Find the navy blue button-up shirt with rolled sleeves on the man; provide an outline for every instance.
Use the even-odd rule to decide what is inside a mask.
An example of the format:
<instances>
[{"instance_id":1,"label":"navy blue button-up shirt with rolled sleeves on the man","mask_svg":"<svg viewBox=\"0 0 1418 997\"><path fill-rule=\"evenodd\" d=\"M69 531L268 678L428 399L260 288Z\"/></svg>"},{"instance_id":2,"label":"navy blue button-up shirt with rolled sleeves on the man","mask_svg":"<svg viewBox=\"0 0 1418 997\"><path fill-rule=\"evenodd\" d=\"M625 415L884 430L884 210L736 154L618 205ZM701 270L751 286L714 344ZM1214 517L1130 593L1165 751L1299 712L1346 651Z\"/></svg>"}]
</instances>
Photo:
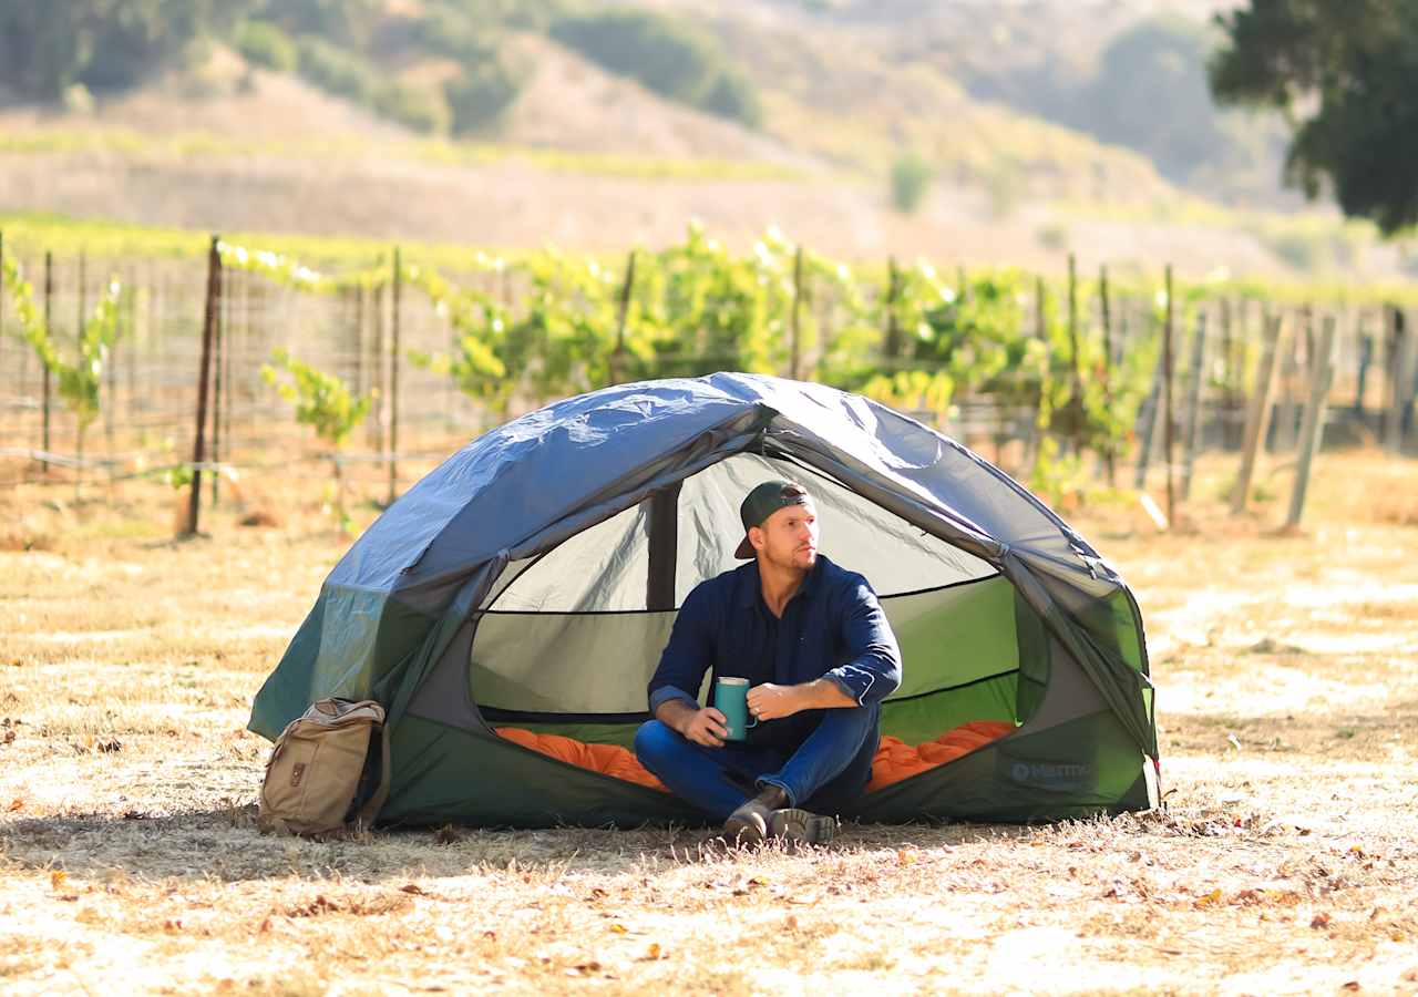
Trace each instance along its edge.
<instances>
[{"instance_id":1,"label":"navy blue button-up shirt with rolled sleeves on the man","mask_svg":"<svg viewBox=\"0 0 1418 997\"><path fill-rule=\"evenodd\" d=\"M698 708L706 671L800 685L832 679L859 706L878 703L900 685L900 651L876 593L861 574L822 555L778 618L763 601L756 560L700 581L685 598L649 679L649 712L668 699ZM712 686L710 686L712 688ZM808 709L749 729L747 743L797 749L822 711Z\"/></svg>"}]
</instances>

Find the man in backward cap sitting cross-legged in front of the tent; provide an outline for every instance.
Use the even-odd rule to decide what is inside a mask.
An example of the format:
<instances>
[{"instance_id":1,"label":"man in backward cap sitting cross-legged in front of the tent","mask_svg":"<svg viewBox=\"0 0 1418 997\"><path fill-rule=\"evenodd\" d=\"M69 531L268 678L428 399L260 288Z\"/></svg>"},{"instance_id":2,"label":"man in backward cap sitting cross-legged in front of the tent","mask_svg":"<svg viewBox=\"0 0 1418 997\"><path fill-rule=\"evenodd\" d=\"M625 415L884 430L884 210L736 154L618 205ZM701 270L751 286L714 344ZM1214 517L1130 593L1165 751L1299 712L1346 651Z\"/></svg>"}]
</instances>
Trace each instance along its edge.
<instances>
[{"instance_id":1,"label":"man in backward cap sitting cross-legged in front of the tent","mask_svg":"<svg viewBox=\"0 0 1418 997\"><path fill-rule=\"evenodd\" d=\"M801 485L769 481L739 508L753 560L685 598L649 681L655 718L635 754L675 794L725 821L726 837L822 842L831 815L871 780L881 701L900 685L900 651L861 574L818 555L817 509ZM725 715L695 698L705 671L749 679L757 725L726 742Z\"/></svg>"}]
</instances>

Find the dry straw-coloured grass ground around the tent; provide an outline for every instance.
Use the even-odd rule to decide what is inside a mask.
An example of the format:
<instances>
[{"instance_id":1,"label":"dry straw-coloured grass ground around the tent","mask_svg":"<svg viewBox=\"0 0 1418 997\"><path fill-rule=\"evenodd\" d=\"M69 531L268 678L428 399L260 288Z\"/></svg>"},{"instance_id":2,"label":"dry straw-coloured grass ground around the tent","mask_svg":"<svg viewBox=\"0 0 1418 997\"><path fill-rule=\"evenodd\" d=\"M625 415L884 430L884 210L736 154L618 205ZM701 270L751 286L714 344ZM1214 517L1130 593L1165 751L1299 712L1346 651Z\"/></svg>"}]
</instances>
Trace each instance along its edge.
<instances>
[{"instance_id":1,"label":"dry straw-coloured grass ground around the tent","mask_svg":"<svg viewBox=\"0 0 1418 997\"><path fill-rule=\"evenodd\" d=\"M1166 811L805 854L262 837L248 703L347 540L295 495L173 545L156 491L11 489L0 990L1418 991L1418 465L1326 455L1278 538L1221 513L1231 464L1204 529L1075 516L1141 603Z\"/></svg>"}]
</instances>

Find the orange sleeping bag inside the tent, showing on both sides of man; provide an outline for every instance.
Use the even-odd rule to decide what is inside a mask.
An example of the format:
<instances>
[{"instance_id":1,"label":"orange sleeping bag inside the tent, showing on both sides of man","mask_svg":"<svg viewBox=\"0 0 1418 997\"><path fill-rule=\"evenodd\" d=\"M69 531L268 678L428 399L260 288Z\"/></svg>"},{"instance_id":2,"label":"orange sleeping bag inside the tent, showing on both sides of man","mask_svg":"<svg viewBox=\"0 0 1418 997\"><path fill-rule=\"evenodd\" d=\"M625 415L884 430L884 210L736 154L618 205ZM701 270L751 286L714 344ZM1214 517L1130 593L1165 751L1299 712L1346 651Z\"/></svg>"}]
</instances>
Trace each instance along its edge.
<instances>
[{"instance_id":1,"label":"orange sleeping bag inside the tent, showing on both sides of man","mask_svg":"<svg viewBox=\"0 0 1418 997\"><path fill-rule=\"evenodd\" d=\"M977 747L998 740L1014 730L1012 723L998 720L976 720L964 723L954 730L947 730L934 740L912 747L899 737L882 737L872 760L872 781L866 784L866 791L885 789L902 779L919 776L936 766L953 762L961 754L967 754ZM579 769L598 772L603 776L624 779L627 783L647 786L661 793L668 793L665 784L655 779L645 766L640 763L635 753L620 745L587 745L574 737L563 737L554 733L535 733L522 728L496 728L495 733L515 745L540 752L557 762L574 764Z\"/></svg>"}]
</instances>

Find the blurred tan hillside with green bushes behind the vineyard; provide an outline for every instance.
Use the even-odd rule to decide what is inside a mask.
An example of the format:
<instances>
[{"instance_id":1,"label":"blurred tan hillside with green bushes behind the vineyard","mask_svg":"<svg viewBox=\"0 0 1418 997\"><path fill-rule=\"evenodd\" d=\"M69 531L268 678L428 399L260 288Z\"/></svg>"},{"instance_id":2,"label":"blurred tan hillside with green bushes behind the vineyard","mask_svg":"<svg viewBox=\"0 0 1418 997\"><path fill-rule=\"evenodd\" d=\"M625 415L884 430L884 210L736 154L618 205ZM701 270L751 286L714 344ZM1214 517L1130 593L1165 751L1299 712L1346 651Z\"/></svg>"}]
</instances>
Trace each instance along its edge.
<instances>
[{"instance_id":1,"label":"blurred tan hillside with green bushes behind the vineyard","mask_svg":"<svg viewBox=\"0 0 1418 997\"><path fill-rule=\"evenodd\" d=\"M0 211L593 250L699 217L842 255L1400 272L1290 217L1276 122L1212 109L1211 6L7 6Z\"/></svg>"}]
</instances>

